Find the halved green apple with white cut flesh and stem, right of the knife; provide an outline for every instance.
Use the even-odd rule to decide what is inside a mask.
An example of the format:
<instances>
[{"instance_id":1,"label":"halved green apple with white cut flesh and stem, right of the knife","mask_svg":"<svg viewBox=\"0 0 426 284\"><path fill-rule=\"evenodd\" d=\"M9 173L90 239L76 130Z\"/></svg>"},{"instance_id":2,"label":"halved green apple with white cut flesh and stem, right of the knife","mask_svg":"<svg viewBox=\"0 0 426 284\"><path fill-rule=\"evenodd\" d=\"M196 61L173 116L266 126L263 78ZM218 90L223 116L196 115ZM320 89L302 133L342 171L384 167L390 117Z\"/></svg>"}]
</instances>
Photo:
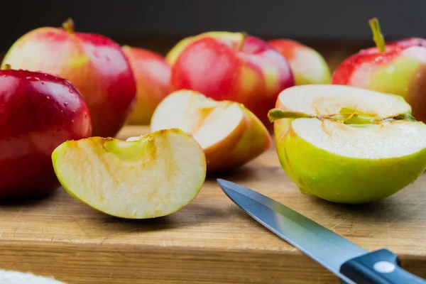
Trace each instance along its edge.
<instances>
[{"instance_id":1,"label":"halved green apple with white cut flesh and stem, right of the knife","mask_svg":"<svg viewBox=\"0 0 426 284\"><path fill-rule=\"evenodd\" d=\"M374 202L426 169L426 125L415 121L403 97L306 84L285 89L277 105L268 117L275 124L278 158L305 194L339 203Z\"/></svg>"}]
</instances>

